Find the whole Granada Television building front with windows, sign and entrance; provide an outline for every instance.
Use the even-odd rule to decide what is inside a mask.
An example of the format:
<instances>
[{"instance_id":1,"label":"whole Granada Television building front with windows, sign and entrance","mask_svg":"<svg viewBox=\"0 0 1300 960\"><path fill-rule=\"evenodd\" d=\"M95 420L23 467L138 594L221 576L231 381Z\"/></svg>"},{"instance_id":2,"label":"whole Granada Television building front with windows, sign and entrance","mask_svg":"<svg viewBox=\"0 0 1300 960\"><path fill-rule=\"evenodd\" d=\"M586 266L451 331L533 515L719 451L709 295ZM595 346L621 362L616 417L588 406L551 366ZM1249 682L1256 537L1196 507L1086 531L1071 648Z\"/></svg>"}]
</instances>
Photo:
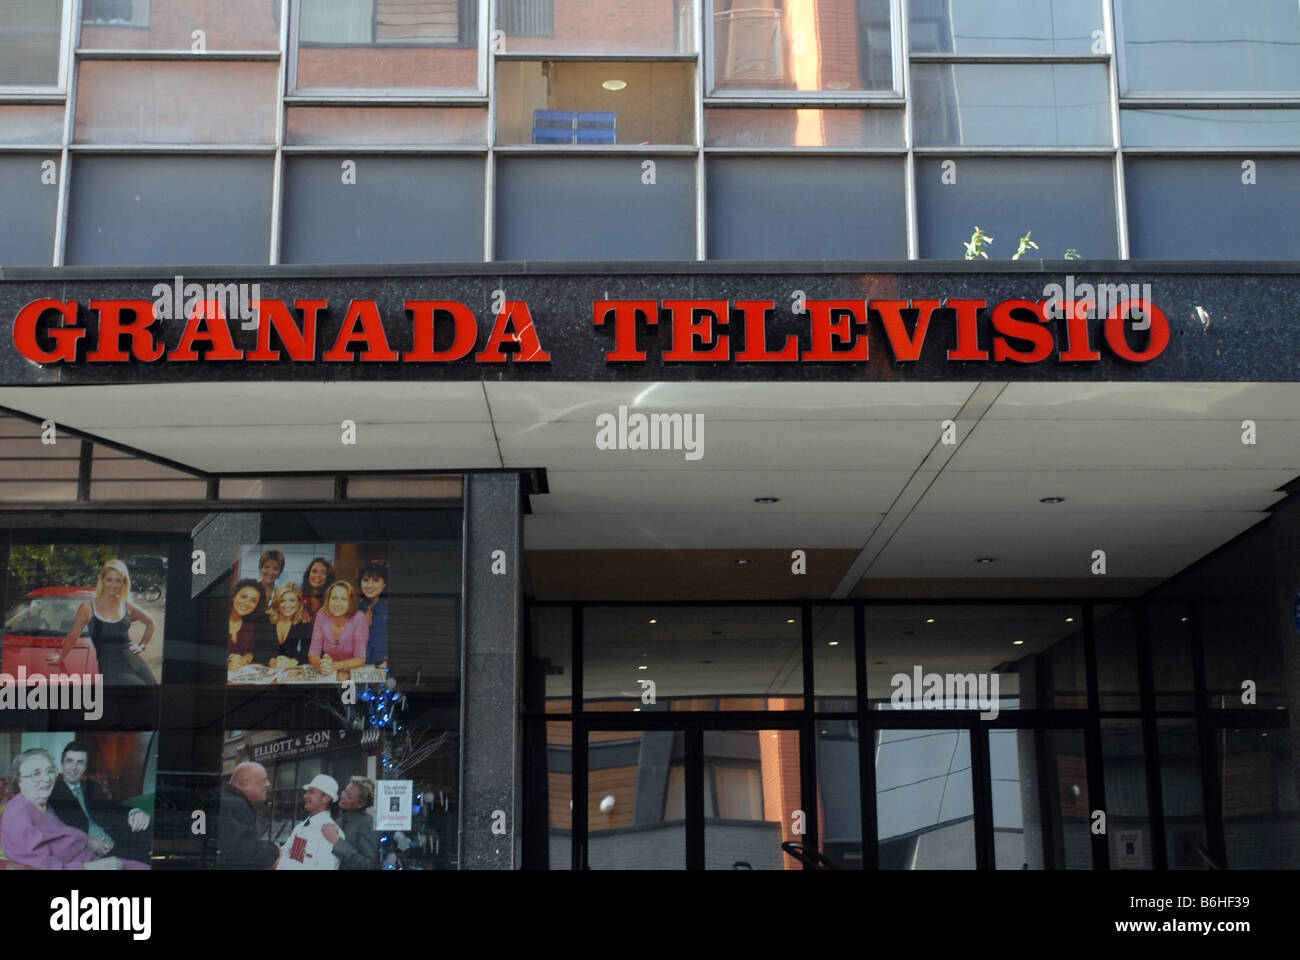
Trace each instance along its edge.
<instances>
[{"instance_id":1,"label":"whole Granada Television building front with windows, sign and entrance","mask_svg":"<svg viewBox=\"0 0 1300 960\"><path fill-rule=\"evenodd\" d=\"M157 869L254 865L240 770L283 866L317 778L374 869L1295 866L1297 48L10 4L5 809L44 749Z\"/></svg>"}]
</instances>

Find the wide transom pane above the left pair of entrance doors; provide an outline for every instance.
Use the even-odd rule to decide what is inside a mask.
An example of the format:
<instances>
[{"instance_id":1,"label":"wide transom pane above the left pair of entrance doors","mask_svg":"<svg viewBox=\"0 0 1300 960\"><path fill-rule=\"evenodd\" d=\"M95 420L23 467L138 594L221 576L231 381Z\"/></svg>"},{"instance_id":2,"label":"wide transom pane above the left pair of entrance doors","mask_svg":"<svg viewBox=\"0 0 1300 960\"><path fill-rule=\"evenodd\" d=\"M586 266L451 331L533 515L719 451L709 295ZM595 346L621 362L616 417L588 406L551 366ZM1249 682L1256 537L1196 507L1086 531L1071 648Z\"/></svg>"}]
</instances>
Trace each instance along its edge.
<instances>
[{"instance_id":1,"label":"wide transom pane above the left pair of entrance doors","mask_svg":"<svg viewBox=\"0 0 1300 960\"><path fill-rule=\"evenodd\" d=\"M803 706L798 607L593 606L584 615L586 709Z\"/></svg>"}]
</instances>

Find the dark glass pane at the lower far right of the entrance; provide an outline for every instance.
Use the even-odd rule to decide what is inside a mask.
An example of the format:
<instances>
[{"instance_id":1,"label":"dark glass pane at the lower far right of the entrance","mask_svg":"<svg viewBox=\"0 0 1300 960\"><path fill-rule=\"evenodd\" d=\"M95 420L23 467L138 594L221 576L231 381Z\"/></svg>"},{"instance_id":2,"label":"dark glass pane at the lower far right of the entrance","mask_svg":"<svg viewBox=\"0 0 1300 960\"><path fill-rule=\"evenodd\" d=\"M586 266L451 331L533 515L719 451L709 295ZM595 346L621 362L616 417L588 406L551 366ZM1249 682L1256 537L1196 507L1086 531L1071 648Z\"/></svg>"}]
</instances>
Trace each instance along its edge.
<instances>
[{"instance_id":1,"label":"dark glass pane at the lower far right of the entrance","mask_svg":"<svg viewBox=\"0 0 1300 960\"><path fill-rule=\"evenodd\" d=\"M1219 730L1214 735L1223 787L1227 868L1295 869L1296 793L1291 732Z\"/></svg>"}]
</instances>

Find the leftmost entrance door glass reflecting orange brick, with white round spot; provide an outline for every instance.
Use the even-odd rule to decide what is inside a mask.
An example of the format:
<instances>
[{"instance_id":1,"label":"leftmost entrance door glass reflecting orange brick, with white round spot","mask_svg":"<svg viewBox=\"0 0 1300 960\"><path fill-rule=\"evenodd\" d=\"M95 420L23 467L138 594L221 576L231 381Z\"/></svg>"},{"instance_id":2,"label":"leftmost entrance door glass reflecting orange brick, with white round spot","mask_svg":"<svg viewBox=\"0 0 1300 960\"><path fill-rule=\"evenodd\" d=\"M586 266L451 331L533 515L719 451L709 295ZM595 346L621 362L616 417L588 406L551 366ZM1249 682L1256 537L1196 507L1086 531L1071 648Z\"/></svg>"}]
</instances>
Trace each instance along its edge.
<instances>
[{"instance_id":1,"label":"leftmost entrance door glass reflecting orange brick, with white round spot","mask_svg":"<svg viewBox=\"0 0 1300 960\"><path fill-rule=\"evenodd\" d=\"M659 730L588 735L586 842L593 870L685 866L682 741L682 734Z\"/></svg>"}]
</instances>

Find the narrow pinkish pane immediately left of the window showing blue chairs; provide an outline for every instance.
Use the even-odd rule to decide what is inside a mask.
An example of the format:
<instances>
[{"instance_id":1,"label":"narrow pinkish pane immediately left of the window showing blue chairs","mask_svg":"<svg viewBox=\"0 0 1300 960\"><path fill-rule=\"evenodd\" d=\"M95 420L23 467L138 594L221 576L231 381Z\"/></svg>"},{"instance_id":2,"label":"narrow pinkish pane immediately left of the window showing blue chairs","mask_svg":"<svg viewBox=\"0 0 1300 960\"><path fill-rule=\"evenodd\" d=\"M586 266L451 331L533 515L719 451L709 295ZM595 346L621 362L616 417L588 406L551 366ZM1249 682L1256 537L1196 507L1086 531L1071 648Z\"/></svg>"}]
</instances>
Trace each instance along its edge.
<instances>
[{"instance_id":1,"label":"narrow pinkish pane immediately left of the window showing blue chairs","mask_svg":"<svg viewBox=\"0 0 1300 960\"><path fill-rule=\"evenodd\" d=\"M285 143L473 146L488 143L488 111L441 107L289 107Z\"/></svg>"}]
</instances>

